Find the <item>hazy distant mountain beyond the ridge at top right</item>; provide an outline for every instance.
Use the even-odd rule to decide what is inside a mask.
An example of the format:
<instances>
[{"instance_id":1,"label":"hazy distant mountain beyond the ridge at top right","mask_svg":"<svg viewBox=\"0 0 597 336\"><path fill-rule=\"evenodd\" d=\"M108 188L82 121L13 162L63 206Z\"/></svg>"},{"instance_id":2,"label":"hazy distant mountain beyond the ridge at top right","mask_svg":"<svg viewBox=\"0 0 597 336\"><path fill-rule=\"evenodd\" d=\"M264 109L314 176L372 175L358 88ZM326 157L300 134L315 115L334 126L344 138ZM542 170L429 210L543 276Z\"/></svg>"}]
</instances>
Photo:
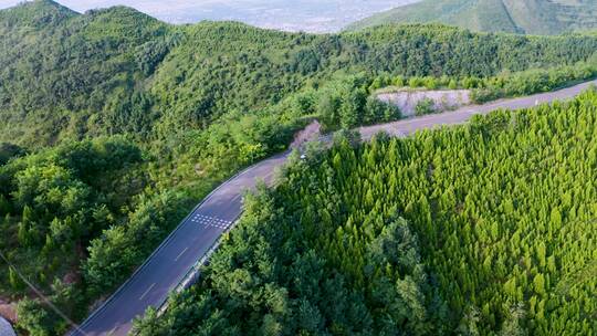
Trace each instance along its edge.
<instances>
[{"instance_id":1,"label":"hazy distant mountain beyond the ridge at top right","mask_svg":"<svg viewBox=\"0 0 597 336\"><path fill-rule=\"evenodd\" d=\"M559 34L597 29L597 0L425 0L352 24L439 22L482 32Z\"/></svg>"}]
</instances>

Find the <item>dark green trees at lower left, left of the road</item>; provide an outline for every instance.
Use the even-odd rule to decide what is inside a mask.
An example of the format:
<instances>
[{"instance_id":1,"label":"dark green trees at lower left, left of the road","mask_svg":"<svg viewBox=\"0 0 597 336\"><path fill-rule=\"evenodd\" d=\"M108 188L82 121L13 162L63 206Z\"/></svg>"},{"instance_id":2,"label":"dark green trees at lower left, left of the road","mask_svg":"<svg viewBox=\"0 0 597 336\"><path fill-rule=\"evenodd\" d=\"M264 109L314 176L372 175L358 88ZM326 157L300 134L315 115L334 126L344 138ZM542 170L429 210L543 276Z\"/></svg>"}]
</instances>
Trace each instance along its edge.
<instances>
[{"instance_id":1,"label":"dark green trees at lower left, left of the road","mask_svg":"<svg viewBox=\"0 0 597 336\"><path fill-rule=\"evenodd\" d=\"M189 207L172 192L155 195L145 168L139 148L119 137L65 143L0 167L0 246L72 318L85 316L91 301L126 279ZM123 232L121 241L115 232ZM29 293L4 263L0 277L9 284L0 295ZM45 304L24 297L18 307L19 327L31 335L65 333Z\"/></svg>"}]
</instances>

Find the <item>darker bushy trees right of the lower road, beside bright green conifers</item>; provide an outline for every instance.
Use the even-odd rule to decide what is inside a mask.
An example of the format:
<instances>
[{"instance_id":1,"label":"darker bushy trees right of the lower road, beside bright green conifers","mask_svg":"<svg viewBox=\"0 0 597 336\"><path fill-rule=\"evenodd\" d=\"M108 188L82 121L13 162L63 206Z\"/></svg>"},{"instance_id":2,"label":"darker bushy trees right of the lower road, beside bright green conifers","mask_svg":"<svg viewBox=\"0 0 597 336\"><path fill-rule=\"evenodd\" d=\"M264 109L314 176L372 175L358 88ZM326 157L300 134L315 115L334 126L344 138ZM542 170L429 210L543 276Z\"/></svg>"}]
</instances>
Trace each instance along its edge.
<instances>
[{"instance_id":1,"label":"darker bushy trees right of the lower road, beside bright green conifers","mask_svg":"<svg viewBox=\"0 0 597 336\"><path fill-rule=\"evenodd\" d=\"M294 178L300 177L293 172ZM429 322L441 318L444 306L420 263L409 224L374 213L363 222L338 220L331 217L338 214L332 203L314 208L321 199L305 198L303 183L290 182L281 193L262 189L249 199L243 220L210 261L201 284L172 298L172 309L157 323L151 313L137 322L139 334L432 330Z\"/></svg>"}]
</instances>

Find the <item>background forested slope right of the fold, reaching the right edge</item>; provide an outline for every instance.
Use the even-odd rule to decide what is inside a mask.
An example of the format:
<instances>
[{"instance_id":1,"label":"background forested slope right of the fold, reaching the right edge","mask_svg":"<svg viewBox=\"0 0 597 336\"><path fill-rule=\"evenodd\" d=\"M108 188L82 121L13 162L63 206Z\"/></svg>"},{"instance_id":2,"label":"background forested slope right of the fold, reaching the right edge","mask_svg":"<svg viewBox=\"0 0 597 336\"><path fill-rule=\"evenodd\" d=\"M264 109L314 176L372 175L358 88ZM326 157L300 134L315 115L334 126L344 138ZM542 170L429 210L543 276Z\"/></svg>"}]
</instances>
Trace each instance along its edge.
<instances>
[{"instance_id":1,"label":"background forested slope right of the fold, reaching the right edge","mask_svg":"<svg viewBox=\"0 0 597 336\"><path fill-rule=\"evenodd\" d=\"M574 63L575 54L585 59L596 46L587 38L490 36L437 25L311 35L206 22L185 30L149 91L165 135L230 111L261 109L338 74L491 76Z\"/></svg>"}]
</instances>

